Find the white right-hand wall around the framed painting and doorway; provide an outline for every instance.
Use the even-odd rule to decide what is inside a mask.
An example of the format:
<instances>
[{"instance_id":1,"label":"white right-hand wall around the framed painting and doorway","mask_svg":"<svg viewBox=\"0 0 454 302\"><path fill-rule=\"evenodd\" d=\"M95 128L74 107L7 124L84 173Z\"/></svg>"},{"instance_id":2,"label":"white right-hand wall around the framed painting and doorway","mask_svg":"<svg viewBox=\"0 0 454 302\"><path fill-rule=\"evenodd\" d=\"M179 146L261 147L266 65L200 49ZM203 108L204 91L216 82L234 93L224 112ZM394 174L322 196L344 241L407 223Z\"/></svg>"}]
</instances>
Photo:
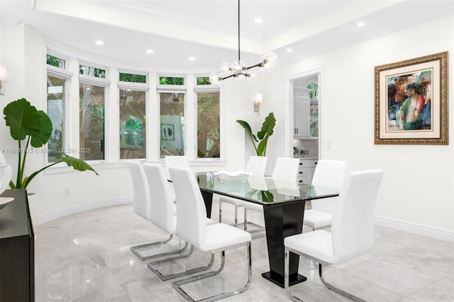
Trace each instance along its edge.
<instances>
[{"instance_id":1,"label":"white right-hand wall around the framed painting and doorway","mask_svg":"<svg viewBox=\"0 0 454 302\"><path fill-rule=\"evenodd\" d=\"M374 67L448 50L453 87L453 16L380 38L280 65L270 74L267 98L282 101L284 79L323 69L324 158L348 160L350 170L384 169L376 216L381 223L454 235L453 123L450 145L374 145ZM435 33L442 37L436 38ZM449 94L453 104L453 94ZM282 108L275 104L276 111ZM454 106L449 106L453 116ZM278 120L284 118L279 111ZM284 129L277 127L276 152L284 153ZM331 143L331 149L326 148ZM380 223L379 221L379 223ZM410 229L410 228L409 228ZM421 230L425 232L426 230ZM443 236L442 235L442 236Z\"/></svg>"}]
</instances>

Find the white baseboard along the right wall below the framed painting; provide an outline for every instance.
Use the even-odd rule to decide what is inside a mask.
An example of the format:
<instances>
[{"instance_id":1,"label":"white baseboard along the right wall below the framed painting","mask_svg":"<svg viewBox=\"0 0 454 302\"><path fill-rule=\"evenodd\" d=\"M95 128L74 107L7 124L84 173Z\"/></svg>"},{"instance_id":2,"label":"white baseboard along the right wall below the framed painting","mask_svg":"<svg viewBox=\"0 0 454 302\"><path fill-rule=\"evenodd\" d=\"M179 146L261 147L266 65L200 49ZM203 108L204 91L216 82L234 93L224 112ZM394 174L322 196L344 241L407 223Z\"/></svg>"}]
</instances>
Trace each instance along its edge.
<instances>
[{"instance_id":1,"label":"white baseboard along the right wall below the framed painting","mask_svg":"<svg viewBox=\"0 0 454 302\"><path fill-rule=\"evenodd\" d=\"M392 228L394 230L402 230L404 232L430 237L436 240L454 242L454 230L437 228L421 223L414 223L384 216L375 216L375 224L384 228Z\"/></svg>"}]
</instances>

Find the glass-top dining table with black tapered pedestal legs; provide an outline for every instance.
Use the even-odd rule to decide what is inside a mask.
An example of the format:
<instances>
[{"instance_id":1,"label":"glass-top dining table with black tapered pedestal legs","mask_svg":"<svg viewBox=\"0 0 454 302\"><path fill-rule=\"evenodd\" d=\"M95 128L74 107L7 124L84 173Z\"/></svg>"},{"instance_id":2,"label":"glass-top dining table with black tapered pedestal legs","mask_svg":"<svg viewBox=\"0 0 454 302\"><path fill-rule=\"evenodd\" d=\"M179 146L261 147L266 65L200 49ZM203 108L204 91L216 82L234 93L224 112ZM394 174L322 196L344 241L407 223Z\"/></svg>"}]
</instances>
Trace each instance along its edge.
<instances>
[{"instance_id":1,"label":"glass-top dining table with black tapered pedestal legs","mask_svg":"<svg viewBox=\"0 0 454 302\"><path fill-rule=\"evenodd\" d=\"M221 177L215 172L196 172L196 179L211 216L213 194L230 196L263 206L265 232L270 272L262 276L284 287L284 237L299 234L303 228L304 203L306 201L338 196L338 189L308 184L296 184L240 174L237 177ZM290 285L306 281L298 274L299 256L289 257Z\"/></svg>"}]
</instances>

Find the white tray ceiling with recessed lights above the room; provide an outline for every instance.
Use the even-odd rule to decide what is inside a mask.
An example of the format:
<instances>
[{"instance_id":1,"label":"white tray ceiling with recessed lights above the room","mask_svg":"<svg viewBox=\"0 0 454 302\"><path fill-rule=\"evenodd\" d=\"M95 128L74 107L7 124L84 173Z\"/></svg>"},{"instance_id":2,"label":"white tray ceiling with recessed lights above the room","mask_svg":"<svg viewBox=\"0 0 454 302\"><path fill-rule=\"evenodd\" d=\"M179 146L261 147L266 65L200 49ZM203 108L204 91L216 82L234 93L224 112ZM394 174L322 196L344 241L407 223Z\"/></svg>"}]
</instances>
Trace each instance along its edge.
<instances>
[{"instance_id":1,"label":"white tray ceiling with recessed lights above the room","mask_svg":"<svg viewBox=\"0 0 454 302\"><path fill-rule=\"evenodd\" d=\"M241 59L252 65L267 51L281 62L309 57L452 15L453 7L452 0L242 0ZM1 26L23 22L62 45L137 65L210 69L238 58L236 0L0 0L0 16Z\"/></svg>"}]
</instances>

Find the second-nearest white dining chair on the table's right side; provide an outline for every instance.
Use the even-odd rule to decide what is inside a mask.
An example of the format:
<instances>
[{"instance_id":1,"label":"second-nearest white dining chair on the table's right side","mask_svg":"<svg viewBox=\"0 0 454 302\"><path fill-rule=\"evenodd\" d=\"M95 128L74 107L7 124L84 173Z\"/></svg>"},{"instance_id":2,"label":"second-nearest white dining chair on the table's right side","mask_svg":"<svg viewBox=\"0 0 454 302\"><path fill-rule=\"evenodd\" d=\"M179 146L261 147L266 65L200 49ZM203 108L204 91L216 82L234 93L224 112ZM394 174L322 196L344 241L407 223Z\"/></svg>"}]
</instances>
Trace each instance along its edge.
<instances>
[{"instance_id":1,"label":"second-nearest white dining chair on the table's right side","mask_svg":"<svg viewBox=\"0 0 454 302\"><path fill-rule=\"evenodd\" d=\"M318 160L312 184L340 190L346 173L347 162L344 160ZM331 197L311 201L311 209L304 211L303 225L309 226L312 230L328 228L337 200L338 197Z\"/></svg>"}]
</instances>

